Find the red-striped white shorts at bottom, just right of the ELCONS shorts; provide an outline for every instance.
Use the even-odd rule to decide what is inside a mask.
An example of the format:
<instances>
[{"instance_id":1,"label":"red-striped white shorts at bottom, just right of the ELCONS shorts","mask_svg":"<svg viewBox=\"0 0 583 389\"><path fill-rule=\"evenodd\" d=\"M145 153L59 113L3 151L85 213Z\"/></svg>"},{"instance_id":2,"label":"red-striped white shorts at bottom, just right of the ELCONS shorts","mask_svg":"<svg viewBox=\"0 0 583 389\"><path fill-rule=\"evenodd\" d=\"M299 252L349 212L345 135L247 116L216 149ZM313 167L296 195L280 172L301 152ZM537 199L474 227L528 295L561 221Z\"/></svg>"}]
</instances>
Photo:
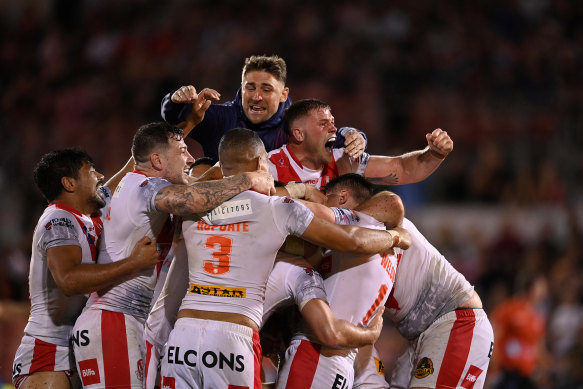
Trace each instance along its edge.
<instances>
[{"instance_id":1,"label":"red-striped white shorts at bottom, just right of the ELCONS shorts","mask_svg":"<svg viewBox=\"0 0 583 389\"><path fill-rule=\"evenodd\" d=\"M354 381L354 358L320 354L320 345L309 340L294 338L285 352L285 362L280 370L277 389L346 389Z\"/></svg>"}]
</instances>

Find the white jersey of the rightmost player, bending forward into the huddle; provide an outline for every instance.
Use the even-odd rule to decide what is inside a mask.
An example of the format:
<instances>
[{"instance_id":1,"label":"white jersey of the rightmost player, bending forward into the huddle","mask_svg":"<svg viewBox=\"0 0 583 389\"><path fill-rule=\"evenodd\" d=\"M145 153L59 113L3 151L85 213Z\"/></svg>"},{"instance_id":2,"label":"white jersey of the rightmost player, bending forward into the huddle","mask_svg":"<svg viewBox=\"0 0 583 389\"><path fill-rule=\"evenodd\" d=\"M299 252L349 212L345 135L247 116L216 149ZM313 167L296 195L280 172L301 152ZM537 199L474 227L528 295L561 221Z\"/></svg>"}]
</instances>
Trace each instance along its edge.
<instances>
[{"instance_id":1,"label":"white jersey of the rightmost player, bending forward into the huddle","mask_svg":"<svg viewBox=\"0 0 583 389\"><path fill-rule=\"evenodd\" d=\"M411 247L403 251L385 315L407 339L414 339L435 319L453 311L473 293L473 286L425 239L408 219L403 228Z\"/></svg>"}]
</instances>

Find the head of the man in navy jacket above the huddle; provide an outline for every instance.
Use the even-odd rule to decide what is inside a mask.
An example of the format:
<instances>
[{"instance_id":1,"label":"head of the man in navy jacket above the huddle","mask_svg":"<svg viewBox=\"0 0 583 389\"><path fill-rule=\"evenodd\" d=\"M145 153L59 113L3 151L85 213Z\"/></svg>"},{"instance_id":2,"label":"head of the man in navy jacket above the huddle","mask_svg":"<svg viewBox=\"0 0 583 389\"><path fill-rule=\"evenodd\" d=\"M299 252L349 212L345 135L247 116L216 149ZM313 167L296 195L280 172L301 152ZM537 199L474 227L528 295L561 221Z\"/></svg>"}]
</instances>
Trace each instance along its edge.
<instances>
[{"instance_id":1,"label":"head of the man in navy jacket above the huddle","mask_svg":"<svg viewBox=\"0 0 583 389\"><path fill-rule=\"evenodd\" d=\"M269 120L287 100L287 68L277 55L254 55L245 59L241 75L243 112L253 124Z\"/></svg>"}]
</instances>

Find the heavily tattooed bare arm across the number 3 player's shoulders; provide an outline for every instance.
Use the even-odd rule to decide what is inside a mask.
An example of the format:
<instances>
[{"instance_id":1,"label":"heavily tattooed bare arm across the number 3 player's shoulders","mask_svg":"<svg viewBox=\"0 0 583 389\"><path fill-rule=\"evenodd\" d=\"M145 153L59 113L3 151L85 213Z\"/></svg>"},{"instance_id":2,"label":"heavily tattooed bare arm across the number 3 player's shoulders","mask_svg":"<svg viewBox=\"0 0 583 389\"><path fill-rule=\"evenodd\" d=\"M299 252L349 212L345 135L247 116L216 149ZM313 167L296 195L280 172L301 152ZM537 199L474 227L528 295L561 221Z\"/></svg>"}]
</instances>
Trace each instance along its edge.
<instances>
[{"instance_id":1,"label":"heavily tattooed bare arm across the number 3 player's shoulders","mask_svg":"<svg viewBox=\"0 0 583 389\"><path fill-rule=\"evenodd\" d=\"M255 171L195 185L171 185L161 189L154 201L159 211L188 217L216 208L249 189L266 195L275 193L273 177L268 172Z\"/></svg>"}]
</instances>

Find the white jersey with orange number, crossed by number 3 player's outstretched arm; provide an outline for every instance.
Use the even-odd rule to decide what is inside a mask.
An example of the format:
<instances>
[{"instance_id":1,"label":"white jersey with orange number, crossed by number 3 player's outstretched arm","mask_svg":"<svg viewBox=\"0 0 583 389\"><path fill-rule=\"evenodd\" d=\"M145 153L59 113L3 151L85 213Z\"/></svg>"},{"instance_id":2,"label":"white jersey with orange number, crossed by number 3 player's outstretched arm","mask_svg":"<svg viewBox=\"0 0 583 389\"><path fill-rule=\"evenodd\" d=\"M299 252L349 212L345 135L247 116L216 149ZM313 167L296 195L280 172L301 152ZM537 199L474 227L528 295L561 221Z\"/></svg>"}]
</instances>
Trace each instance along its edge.
<instances>
[{"instance_id":1,"label":"white jersey with orange number, crossed by number 3 player's outstretched arm","mask_svg":"<svg viewBox=\"0 0 583 389\"><path fill-rule=\"evenodd\" d=\"M332 208L337 224L384 230L385 225L361 212ZM397 254L403 250L394 249ZM334 315L367 326L385 303L395 282L397 257L383 253L358 255L329 251L320 264L328 302Z\"/></svg>"}]
</instances>

